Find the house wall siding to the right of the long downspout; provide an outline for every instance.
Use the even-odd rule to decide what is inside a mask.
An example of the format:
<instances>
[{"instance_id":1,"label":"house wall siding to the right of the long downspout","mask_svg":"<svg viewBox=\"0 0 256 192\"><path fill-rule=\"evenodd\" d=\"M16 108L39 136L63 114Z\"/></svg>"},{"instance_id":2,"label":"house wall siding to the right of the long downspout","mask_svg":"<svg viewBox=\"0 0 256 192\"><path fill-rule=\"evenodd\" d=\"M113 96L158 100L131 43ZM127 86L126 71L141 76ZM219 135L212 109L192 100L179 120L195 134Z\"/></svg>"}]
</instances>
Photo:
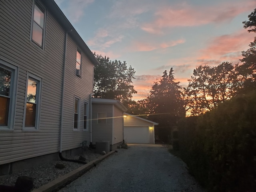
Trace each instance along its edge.
<instances>
[{"instance_id":1,"label":"house wall siding to the right of the long downspout","mask_svg":"<svg viewBox=\"0 0 256 192\"><path fill-rule=\"evenodd\" d=\"M77 45L68 35L65 69L65 87L64 87L64 110L63 110L63 132L62 132L62 150L69 150L81 147L82 141L90 142L90 128L84 131L84 124L80 123L78 130L73 131L74 118L74 95L80 98L80 122L84 121L84 102L90 102L90 94L93 92L93 70L94 66L82 54L82 78L78 78L74 72L76 63ZM90 107L88 106L90 112ZM90 125L90 119L87 121Z\"/></svg>"}]
</instances>

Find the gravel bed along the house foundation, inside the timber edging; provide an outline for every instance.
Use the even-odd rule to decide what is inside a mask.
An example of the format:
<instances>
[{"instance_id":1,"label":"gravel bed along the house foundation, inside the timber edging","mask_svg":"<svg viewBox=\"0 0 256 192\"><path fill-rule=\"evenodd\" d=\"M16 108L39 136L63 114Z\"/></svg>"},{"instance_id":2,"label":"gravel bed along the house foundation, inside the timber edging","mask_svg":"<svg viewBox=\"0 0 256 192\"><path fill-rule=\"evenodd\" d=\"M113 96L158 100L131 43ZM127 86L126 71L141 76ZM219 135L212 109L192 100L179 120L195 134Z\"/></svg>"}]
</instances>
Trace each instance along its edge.
<instances>
[{"instance_id":1,"label":"gravel bed along the house foundation, inside the timber edging","mask_svg":"<svg viewBox=\"0 0 256 192\"><path fill-rule=\"evenodd\" d=\"M83 154L80 154L78 156L71 156L68 157L68 159L79 159L80 156L83 156L86 158L86 162L90 162L100 156L101 154L97 154L94 151L86 150ZM58 169L55 168L56 164L63 164L65 168ZM79 168L80 166L83 166L84 164L75 163L75 162L68 162L68 161L52 161L48 163L41 164L39 166L35 166L30 169L24 169L20 172L16 172L14 174L10 175L4 175L0 176L0 184L1 185L8 185L8 186L14 186L17 178L19 176L30 176L34 178L34 188L39 188L40 186L47 184L51 182L52 180L55 180L56 178L63 176L72 170L75 170Z\"/></svg>"}]
</instances>

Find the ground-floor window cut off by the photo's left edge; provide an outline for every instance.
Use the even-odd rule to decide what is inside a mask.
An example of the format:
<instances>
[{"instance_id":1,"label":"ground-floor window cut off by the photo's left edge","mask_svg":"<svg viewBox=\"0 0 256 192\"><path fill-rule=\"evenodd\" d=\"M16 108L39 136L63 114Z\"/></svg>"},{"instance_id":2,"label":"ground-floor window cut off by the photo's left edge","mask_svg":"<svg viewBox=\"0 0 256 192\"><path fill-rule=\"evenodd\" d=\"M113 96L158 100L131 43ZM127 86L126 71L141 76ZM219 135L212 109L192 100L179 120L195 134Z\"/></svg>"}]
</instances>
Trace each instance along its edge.
<instances>
[{"instance_id":1,"label":"ground-floor window cut off by the photo's left edge","mask_svg":"<svg viewBox=\"0 0 256 192\"><path fill-rule=\"evenodd\" d=\"M0 59L0 130L14 128L18 67Z\"/></svg>"}]
</instances>

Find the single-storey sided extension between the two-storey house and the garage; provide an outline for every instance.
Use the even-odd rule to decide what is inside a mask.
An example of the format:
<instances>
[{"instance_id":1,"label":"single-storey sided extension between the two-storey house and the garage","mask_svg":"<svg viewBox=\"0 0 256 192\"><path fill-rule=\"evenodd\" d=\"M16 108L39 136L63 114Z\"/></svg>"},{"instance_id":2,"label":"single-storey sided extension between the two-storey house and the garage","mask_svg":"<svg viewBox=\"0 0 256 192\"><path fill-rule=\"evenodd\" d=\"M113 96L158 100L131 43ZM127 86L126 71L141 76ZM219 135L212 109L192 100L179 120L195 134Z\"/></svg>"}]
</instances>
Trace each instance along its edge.
<instances>
[{"instance_id":1,"label":"single-storey sided extension between the two-storey house and the garage","mask_svg":"<svg viewBox=\"0 0 256 192\"><path fill-rule=\"evenodd\" d=\"M110 150L116 149L124 139L126 110L118 100L92 98L92 144L109 142Z\"/></svg>"}]
</instances>

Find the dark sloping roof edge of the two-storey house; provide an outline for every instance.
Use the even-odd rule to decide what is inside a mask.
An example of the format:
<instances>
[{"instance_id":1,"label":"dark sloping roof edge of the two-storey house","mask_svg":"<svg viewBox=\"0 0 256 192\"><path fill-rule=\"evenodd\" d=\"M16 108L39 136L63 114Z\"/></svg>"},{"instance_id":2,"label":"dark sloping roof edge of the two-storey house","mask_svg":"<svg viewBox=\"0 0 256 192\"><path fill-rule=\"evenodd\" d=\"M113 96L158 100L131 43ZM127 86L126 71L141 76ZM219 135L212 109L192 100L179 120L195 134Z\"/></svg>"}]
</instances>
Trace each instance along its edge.
<instances>
[{"instance_id":1,"label":"dark sloping roof edge of the two-storey house","mask_svg":"<svg viewBox=\"0 0 256 192\"><path fill-rule=\"evenodd\" d=\"M72 26L72 24L69 22L69 20L66 18L64 13L60 10L58 5L54 2L54 0L43 0L42 1L46 8L50 11L50 13L56 18L58 23L68 32L69 36L76 42L78 47L82 49L82 52L88 56L89 60L92 62L92 64L96 65L99 64L98 60L95 58L94 54L92 54L91 50L88 48L88 46L85 44L84 40L80 37L78 32L75 30L75 28Z\"/></svg>"}]
</instances>

